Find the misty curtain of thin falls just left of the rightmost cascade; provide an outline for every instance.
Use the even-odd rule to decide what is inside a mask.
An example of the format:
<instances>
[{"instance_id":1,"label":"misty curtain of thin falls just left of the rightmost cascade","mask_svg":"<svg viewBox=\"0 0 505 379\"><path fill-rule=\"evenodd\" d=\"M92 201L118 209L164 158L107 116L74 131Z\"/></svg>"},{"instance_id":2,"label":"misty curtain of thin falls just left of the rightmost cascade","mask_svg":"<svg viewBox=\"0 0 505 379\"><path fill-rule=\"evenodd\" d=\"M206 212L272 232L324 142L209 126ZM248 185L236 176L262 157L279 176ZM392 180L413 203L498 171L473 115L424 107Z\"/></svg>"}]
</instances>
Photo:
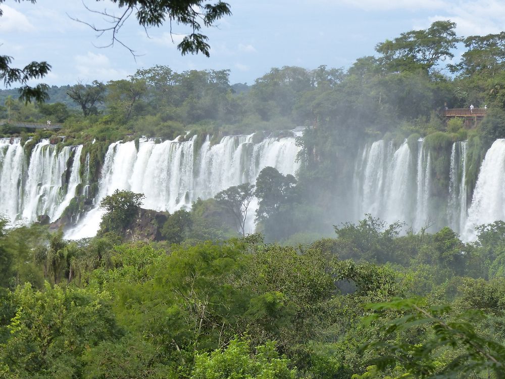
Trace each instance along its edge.
<instances>
[{"instance_id":1,"label":"misty curtain of thin falls just left of the rightmost cascade","mask_svg":"<svg viewBox=\"0 0 505 379\"><path fill-rule=\"evenodd\" d=\"M453 144L450 184L436 198L432 156L423 138L417 141L417 154L407 141L396 149L383 140L367 144L356 165L356 219L370 213L387 223L405 222L416 232L428 225L433 226L430 231L436 230L447 223L460 232L467 215L466 146L466 142Z\"/></svg>"}]
</instances>

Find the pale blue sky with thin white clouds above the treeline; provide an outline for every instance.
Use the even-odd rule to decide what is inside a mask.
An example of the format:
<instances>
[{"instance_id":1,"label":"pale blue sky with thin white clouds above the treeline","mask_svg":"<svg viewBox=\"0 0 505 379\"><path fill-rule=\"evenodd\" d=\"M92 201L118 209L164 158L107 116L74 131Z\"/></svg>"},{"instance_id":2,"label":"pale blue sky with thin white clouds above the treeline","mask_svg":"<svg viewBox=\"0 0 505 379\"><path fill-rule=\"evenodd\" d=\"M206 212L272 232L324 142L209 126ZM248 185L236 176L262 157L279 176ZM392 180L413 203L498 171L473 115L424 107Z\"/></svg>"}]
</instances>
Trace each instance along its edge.
<instances>
[{"instance_id":1,"label":"pale blue sky with thin white clouds above the treeline","mask_svg":"<svg viewBox=\"0 0 505 379\"><path fill-rule=\"evenodd\" d=\"M172 70L229 69L230 83L248 83L274 67L348 68L357 58L374 55L377 43L400 33L426 29L437 20L457 23L460 36L505 30L503 0L228 0L231 16L204 29L211 56L181 56L177 42L189 30L169 25L145 30L130 17L118 37L138 55L110 44L111 35L97 37L89 26L72 18L107 25L86 10L121 10L108 0L37 0L0 4L0 55L12 66L47 61L51 73L42 82L66 85L93 80L126 79L137 69L155 65ZM456 52L455 60L462 49ZM32 82L34 84L36 82ZM0 83L0 88L4 88Z\"/></svg>"}]
</instances>

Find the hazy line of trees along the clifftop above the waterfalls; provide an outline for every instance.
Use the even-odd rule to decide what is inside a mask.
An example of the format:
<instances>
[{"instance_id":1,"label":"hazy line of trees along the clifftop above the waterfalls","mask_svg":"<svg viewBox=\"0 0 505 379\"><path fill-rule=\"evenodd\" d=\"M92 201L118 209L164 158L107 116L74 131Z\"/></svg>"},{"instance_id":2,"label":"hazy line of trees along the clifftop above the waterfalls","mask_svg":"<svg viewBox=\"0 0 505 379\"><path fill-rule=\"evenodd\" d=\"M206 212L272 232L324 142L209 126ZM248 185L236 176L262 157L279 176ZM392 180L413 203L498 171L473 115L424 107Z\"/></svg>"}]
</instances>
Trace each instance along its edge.
<instances>
[{"instance_id":1,"label":"hazy line of trees along the clifftop above the waterfalls","mask_svg":"<svg viewBox=\"0 0 505 379\"><path fill-rule=\"evenodd\" d=\"M188 127L246 132L330 125L357 128L356 134L370 137L401 128L424 134L443 129L436 112L445 104L474 104L490 109L490 137L502 135L495 124L503 118L505 32L463 38L455 28L456 23L436 21L425 30L401 33L378 43L375 56L359 58L347 70L285 66L251 85L231 85L226 69L177 73L155 66L107 83L53 86L52 104L17 104L13 113L20 121L68 120L69 133L90 124L159 137ZM459 43L467 50L453 64ZM0 103L5 103L2 96Z\"/></svg>"}]
</instances>

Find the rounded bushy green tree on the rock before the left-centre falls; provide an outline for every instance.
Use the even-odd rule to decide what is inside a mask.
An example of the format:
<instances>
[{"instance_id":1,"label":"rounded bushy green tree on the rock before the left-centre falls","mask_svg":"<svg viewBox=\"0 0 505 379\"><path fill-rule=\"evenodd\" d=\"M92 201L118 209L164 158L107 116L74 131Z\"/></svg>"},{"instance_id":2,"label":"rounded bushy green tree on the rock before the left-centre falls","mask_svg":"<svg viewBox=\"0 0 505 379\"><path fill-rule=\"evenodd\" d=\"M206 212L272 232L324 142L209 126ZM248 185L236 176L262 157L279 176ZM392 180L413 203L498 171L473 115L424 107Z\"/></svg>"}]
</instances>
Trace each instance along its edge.
<instances>
[{"instance_id":1,"label":"rounded bushy green tree on the rock before the left-centre falls","mask_svg":"<svg viewBox=\"0 0 505 379\"><path fill-rule=\"evenodd\" d=\"M112 195L100 201L100 208L107 212L100 222L100 232L124 232L128 224L137 215L144 194L135 194L125 189L116 189Z\"/></svg>"}]
</instances>

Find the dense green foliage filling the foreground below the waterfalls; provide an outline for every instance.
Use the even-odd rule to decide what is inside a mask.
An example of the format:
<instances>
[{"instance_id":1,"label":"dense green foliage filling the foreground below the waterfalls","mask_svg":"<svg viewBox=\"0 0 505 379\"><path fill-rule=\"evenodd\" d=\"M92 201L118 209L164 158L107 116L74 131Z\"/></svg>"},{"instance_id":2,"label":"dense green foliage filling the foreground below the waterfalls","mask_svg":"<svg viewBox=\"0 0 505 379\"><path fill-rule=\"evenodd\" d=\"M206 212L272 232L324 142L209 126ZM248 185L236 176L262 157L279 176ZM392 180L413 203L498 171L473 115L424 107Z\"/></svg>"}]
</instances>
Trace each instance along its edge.
<instances>
[{"instance_id":1,"label":"dense green foliage filling the foreground below the waterfalls","mask_svg":"<svg viewBox=\"0 0 505 379\"><path fill-rule=\"evenodd\" d=\"M180 211L174 228L220 212L215 203ZM0 248L24 251L9 256L11 278L22 263L19 280L38 270L60 284L0 291L0 372L384 379L478 378L489 368L500 377L503 279L458 275L500 275L503 225L480 227L467 246L449 228L398 236L398 227L369 216L309 247L266 245L255 234L186 239L168 252L118 245L110 233L76 245L59 232L45 246L27 228L4 230ZM386 261L395 263L378 264ZM426 300L395 300L413 293Z\"/></svg>"}]
</instances>

